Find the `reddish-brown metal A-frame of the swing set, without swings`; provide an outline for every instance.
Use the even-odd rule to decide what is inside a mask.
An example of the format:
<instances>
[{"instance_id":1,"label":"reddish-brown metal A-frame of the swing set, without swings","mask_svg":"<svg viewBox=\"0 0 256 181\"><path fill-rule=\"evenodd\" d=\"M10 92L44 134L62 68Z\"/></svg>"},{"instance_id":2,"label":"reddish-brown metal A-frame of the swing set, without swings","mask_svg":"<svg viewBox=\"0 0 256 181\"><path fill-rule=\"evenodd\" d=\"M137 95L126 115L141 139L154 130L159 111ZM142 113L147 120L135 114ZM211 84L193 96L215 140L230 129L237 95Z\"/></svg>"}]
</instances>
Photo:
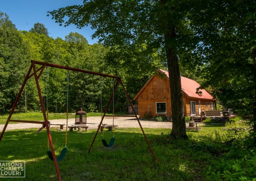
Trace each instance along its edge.
<instances>
[{"instance_id":1,"label":"reddish-brown metal A-frame of the swing set, without swings","mask_svg":"<svg viewBox=\"0 0 256 181\"><path fill-rule=\"evenodd\" d=\"M38 68L38 69L36 70L36 66L35 66L35 65L41 65L41 66L40 66L40 68ZM61 180L61 176L60 176L60 172L59 172L59 168L58 168L58 163L57 163L57 158L56 158L56 155L55 155L55 152L54 152L54 148L53 148L52 137L51 137L50 129L49 129L48 122L47 122L47 118L46 118L46 112L45 112L45 108L44 108L43 98L42 98L42 95L41 95L40 86L39 86L39 82L38 82L38 79L40 78L40 76L41 76L41 74L43 73L43 71L44 71L44 69L45 69L46 66L48 66L48 67L60 68L60 69L65 69L65 70L70 70L70 71L82 72L82 73L87 73L87 74L92 74L92 75L99 75L99 76L104 76L104 77L110 77L110 78L116 79L117 82L116 82L116 84L115 84L113 93L115 92L115 90L116 90L116 88L117 88L117 86L118 86L118 83L120 83L121 86L122 86L122 88L124 89L125 95L126 95L128 101L129 101L130 105L131 105L131 108L132 108L132 110L133 110L133 112L134 112L134 115L135 115L135 117L136 117L136 119L137 119L137 121L138 121L138 123L139 123L139 126L140 126L140 128L141 128L141 130L142 130L142 133L143 133L143 136L144 136L144 138L145 138L145 140L146 140L146 142L147 142L147 144L148 144L148 146L149 146L149 149L150 149L150 151L151 151L151 154L152 154L152 156L154 157L155 161L158 161L157 158L155 157L155 154L154 154L154 152L153 152L153 150L152 150L150 144L149 144L149 141L148 141L148 139L147 139L147 136L146 136L146 134L145 134L144 131L143 131L143 128L142 128L142 126L141 126L141 123L140 123L140 121L139 121L139 118L138 118L138 116L137 116L137 114L136 114L136 112L135 112L134 107L132 106L131 99L129 98L129 96L128 96L127 92L126 92L125 87L124 87L124 84L123 84L123 82L121 81L121 78L120 78L120 77L111 76L111 75L107 75L107 74L102 74L102 73L98 73L98 72L86 71L86 70L82 70L82 69L76 69L76 68L67 67L67 66L62 66L62 65L50 64L50 63L40 62L40 61L35 61L35 60L31 60L31 66L30 66L30 68L29 68L29 70L28 70L28 72L27 72L27 75L26 75L26 77L25 77L25 80L24 80L24 82L22 83L20 92L18 93L18 96L17 96L17 98L15 99L15 102L14 102L14 104L13 104L13 106L12 106L12 109L11 109L11 111L10 111L10 114L9 114L9 116L8 116L8 118L7 118L7 121L6 121L5 125L4 125L4 127L3 127L3 131L2 131L2 133L1 133L1 135L0 135L0 141L1 141L2 138L3 138L3 134L4 134L5 130L6 130L6 127L8 126L8 123L9 123L9 122L23 122L23 123L34 123L34 124L43 124L43 125L45 125L45 126L46 126L47 135L48 135L48 139L49 139L50 146L51 146L51 150L52 150L52 156L53 156L53 161L54 161L56 173L57 173L57 176L58 176L58 180ZM32 70L33 70L33 71L32 71ZM39 71L40 71L40 72L39 72ZM32 72L32 73L31 73L31 72ZM37 75L37 72L39 72L38 75ZM31 73L31 74L30 74L30 73ZM23 89L24 89L24 87L25 87L25 85L26 85L26 82L27 82L27 80L28 80L29 78L31 78L32 76L35 77L36 87L37 87L37 91L38 91L38 95L39 95L39 99L40 99L40 104L41 104L41 108L42 108L42 112L43 112L43 116L44 116L44 121L11 120L11 116L12 116L12 114L13 114L13 112L14 112L14 109L15 109L17 103L18 103L18 100L19 100L19 98L20 98L20 96L21 96L21 93L22 93L22 91L23 91ZM107 103L107 107L106 107L106 109L105 109L105 111L104 111L104 114L103 114L103 116L102 116L102 119L101 119L101 122L100 122L99 125L101 125L101 123L102 123L102 121L103 121L103 119L104 119L104 117L105 117L105 115L106 115L107 109L108 109L108 107L109 107L109 105L110 105L110 102L111 102L111 100L112 100L112 98L113 98L113 93L112 93L111 96L110 96L110 99L109 99L109 101L108 101L108 103ZM91 148L92 148L92 146L93 146L93 144L94 144L94 141L95 141L96 136L97 136L97 134L98 134L98 132L99 132L99 129L100 129L100 126L98 127L97 132L95 133L94 139L93 139L93 141L92 141L92 143L91 143L91 146L90 146L90 148L89 148L89 150L88 150L88 153L90 153L90 150L91 150Z\"/></svg>"}]
</instances>

